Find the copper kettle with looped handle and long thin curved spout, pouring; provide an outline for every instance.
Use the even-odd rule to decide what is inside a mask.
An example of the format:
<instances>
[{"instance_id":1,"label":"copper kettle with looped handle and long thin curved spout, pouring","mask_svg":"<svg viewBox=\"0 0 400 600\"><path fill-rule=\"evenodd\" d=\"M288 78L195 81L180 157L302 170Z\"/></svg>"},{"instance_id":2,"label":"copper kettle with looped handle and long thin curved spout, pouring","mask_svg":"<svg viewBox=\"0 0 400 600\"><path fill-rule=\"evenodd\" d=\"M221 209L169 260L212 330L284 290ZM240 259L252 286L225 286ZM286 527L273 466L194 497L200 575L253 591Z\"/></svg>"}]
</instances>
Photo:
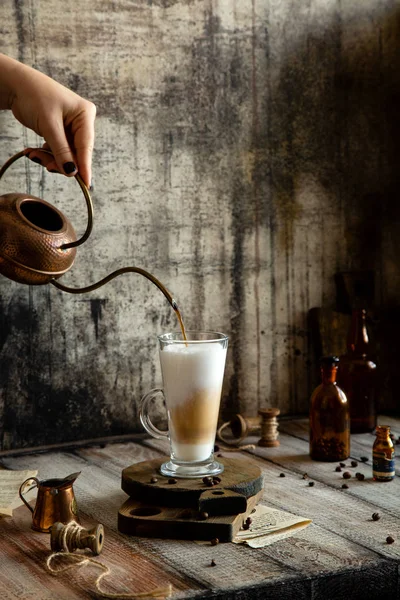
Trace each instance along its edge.
<instances>
[{"instance_id":1,"label":"copper kettle with looped handle and long thin curved spout, pouring","mask_svg":"<svg viewBox=\"0 0 400 600\"><path fill-rule=\"evenodd\" d=\"M40 149L48 154L48 150ZM22 150L7 160L0 169L0 179L19 158ZM51 283L69 294L86 294L102 287L124 273L138 273L151 281L164 294L177 315L186 340L182 315L167 288L151 273L139 267L122 267L100 281L82 288L68 287L58 279L73 265L76 248L90 236L93 228L93 203L90 193L79 174L75 175L86 200L88 222L85 233L78 240L67 217L49 202L36 196L17 192L0 196L0 274L27 285Z\"/></svg>"}]
</instances>

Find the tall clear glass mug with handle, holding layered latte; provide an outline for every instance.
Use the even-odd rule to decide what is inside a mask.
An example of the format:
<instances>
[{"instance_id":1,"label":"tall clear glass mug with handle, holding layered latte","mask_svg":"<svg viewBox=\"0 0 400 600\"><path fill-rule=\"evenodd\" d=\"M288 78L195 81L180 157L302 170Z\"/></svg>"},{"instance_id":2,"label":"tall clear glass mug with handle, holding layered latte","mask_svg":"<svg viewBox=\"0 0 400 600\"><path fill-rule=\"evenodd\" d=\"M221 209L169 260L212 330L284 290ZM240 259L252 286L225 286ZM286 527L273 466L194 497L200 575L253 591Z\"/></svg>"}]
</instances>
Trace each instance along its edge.
<instances>
[{"instance_id":1,"label":"tall clear glass mug with handle, holding layered latte","mask_svg":"<svg viewBox=\"0 0 400 600\"><path fill-rule=\"evenodd\" d=\"M224 469L214 460L228 338L223 333L187 331L158 337L163 389L146 394L140 420L150 435L168 437L170 460L161 465L163 475L204 477ZM153 399L162 395L168 413L168 431L160 431L149 418Z\"/></svg>"}]
</instances>

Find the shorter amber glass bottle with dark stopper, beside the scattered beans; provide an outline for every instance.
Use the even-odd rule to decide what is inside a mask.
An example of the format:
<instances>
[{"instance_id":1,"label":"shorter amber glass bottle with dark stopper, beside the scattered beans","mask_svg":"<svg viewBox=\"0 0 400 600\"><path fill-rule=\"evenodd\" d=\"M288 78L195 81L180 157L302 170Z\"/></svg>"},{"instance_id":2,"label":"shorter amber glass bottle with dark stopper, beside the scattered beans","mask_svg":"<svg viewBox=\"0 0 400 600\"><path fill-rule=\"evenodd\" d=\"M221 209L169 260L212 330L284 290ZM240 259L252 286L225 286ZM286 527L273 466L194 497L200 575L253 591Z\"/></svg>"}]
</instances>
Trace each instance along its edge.
<instances>
[{"instance_id":1,"label":"shorter amber glass bottle with dark stopper, beside the scattered beans","mask_svg":"<svg viewBox=\"0 0 400 600\"><path fill-rule=\"evenodd\" d=\"M310 403L310 456L314 460L338 461L350 455L350 415L346 394L336 385L339 359L321 359L322 383Z\"/></svg>"}]
</instances>

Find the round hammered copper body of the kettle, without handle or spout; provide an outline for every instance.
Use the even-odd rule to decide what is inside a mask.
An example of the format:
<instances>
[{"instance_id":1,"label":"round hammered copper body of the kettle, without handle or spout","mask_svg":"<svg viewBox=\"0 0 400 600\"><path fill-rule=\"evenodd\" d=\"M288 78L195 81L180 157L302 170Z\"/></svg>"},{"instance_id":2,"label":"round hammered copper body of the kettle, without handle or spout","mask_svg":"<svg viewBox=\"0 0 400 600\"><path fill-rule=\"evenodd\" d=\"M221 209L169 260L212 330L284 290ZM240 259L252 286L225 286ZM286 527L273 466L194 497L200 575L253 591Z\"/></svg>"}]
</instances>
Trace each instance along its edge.
<instances>
[{"instance_id":1,"label":"round hammered copper body of the kettle, without handle or spout","mask_svg":"<svg viewBox=\"0 0 400 600\"><path fill-rule=\"evenodd\" d=\"M33 225L19 210L27 200L55 211L61 228L45 231ZM76 248L62 250L61 246L75 240L71 223L48 202L26 194L0 196L0 273L6 277L27 284L47 283L60 277L72 266L76 255Z\"/></svg>"}]
</instances>

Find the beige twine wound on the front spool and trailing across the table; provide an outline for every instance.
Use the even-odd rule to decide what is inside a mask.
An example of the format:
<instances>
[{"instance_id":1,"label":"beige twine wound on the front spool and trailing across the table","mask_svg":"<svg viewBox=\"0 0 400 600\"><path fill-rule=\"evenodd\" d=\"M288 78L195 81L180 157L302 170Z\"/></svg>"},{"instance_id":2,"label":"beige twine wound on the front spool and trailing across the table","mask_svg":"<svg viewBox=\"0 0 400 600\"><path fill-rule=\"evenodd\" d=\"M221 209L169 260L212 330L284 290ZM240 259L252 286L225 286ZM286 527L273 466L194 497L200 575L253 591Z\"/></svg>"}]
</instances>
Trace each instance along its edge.
<instances>
[{"instance_id":1,"label":"beige twine wound on the front spool and trailing across the table","mask_svg":"<svg viewBox=\"0 0 400 600\"><path fill-rule=\"evenodd\" d=\"M78 523L76 523L76 521L70 521L69 523L67 523L67 525L65 525L64 529L61 532L61 541L62 541L63 550L60 550L58 552L53 552L52 554L50 554L47 557L46 569L52 575L57 576L60 573L65 573L65 571L69 571L70 569L85 567L89 564L92 564L95 567L98 567L99 569L101 569L103 571L103 573L101 573L97 577L97 579L95 581L95 587L96 587L98 595L100 595L103 598L117 598L117 599L119 598L119 599L125 599L125 600L136 600L137 598L160 598L160 599L162 599L162 598L169 598L172 595L172 585L170 583L165 587L156 588L150 592L138 592L138 593L132 592L132 593L114 594L112 592L103 591L101 589L101 581L104 577L111 574L111 570L109 569L109 567L107 567L107 565L100 562L99 560L94 560L93 558L90 558L88 556L72 554L69 551L70 548L78 547L78 545L81 542L84 542L84 540L87 539L88 537L93 537L93 536L92 535L88 536L86 530L84 530L83 527L81 527ZM54 568L52 566L52 562L58 556L66 557L66 558L68 558L69 561L72 561L72 563L69 565L66 565L64 567Z\"/></svg>"}]
</instances>

